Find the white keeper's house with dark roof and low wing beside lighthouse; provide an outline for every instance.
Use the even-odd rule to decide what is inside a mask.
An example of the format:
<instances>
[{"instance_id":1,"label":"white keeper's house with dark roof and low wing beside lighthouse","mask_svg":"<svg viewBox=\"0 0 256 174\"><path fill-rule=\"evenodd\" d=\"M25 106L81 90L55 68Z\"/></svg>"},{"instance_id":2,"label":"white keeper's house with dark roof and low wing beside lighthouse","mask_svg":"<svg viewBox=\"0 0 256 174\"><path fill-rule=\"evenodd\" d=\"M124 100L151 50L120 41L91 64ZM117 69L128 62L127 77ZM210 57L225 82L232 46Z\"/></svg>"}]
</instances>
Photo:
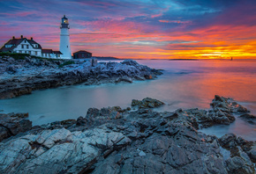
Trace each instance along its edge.
<instances>
[{"instance_id":1,"label":"white keeper's house with dark roof and low wing beside lighthouse","mask_svg":"<svg viewBox=\"0 0 256 174\"><path fill-rule=\"evenodd\" d=\"M52 49L42 49L41 45L31 38L30 40L20 36L20 38L12 37L11 40L7 41L3 47L1 47L0 52L9 53L21 53L21 54L31 54L39 57L45 58L60 58L60 51L53 51Z\"/></svg>"}]
</instances>

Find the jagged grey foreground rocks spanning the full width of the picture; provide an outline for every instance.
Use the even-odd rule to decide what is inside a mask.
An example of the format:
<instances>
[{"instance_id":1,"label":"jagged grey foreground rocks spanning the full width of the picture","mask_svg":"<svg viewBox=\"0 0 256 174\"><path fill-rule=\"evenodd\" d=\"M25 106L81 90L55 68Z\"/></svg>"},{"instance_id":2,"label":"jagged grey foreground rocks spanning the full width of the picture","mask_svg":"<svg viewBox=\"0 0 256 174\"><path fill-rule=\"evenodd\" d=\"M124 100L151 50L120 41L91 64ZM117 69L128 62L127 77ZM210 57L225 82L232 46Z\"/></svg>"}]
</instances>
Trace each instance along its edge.
<instances>
[{"instance_id":1,"label":"jagged grey foreground rocks spanning the full width of the picture","mask_svg":"<svg viewBox=\"0 0 256 174\"><path fill-rule=\"evenodd\" d=\"M244 106L220 96L209 110L155 112L161 105L132 100L132 108L90 108L77 120L35 127L27 114L1 114L0 172L255 173L256 141L200 132L234 115L255 121Z\"/></svg>"}]
</instances>

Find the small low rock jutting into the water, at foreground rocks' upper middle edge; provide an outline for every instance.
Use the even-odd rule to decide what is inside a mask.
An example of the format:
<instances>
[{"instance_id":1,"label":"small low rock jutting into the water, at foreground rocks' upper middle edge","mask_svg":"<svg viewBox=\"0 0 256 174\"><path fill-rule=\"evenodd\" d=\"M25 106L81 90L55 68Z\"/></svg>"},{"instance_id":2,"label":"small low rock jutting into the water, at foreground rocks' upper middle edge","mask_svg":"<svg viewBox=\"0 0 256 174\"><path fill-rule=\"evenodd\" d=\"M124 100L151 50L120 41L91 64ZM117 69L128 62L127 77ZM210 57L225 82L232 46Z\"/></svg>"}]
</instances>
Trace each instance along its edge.
<instances>
[{"instance_id":1,"label":"small low rock jutting into the water, at foreground rocks' upper middle edge","mask_svg":"<svg viewBox=\"0 0 256 174\"><path fill-rule=\"evenodd\" d=\"M164 105L160 100L153 98L144 98L142 100L132 99L132 106L138 106L139 108L154 108Z\"/></svg>"}]
</instances>

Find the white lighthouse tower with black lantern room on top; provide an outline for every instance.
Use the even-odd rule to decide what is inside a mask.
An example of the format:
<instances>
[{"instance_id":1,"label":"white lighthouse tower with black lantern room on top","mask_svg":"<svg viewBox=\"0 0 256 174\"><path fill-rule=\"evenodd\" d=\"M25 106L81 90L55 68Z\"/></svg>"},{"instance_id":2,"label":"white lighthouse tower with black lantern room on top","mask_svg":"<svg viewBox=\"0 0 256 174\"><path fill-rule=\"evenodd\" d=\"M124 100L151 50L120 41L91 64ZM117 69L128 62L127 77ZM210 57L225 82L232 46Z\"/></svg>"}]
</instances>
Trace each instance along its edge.
<instances>
[{"instance_id":1,"label":"white lighthouse tower with black lantern room on top","mask_svg":"<svg viewBox=\"0 0 256 174\"><path fill-rule=\"evenodd\" d=\"M72 50L70 45L69 20L65 17L61 20L60 25L60 43L59 50L62 53L62 59L72 59Z\"/></svg>"}]
</instances>

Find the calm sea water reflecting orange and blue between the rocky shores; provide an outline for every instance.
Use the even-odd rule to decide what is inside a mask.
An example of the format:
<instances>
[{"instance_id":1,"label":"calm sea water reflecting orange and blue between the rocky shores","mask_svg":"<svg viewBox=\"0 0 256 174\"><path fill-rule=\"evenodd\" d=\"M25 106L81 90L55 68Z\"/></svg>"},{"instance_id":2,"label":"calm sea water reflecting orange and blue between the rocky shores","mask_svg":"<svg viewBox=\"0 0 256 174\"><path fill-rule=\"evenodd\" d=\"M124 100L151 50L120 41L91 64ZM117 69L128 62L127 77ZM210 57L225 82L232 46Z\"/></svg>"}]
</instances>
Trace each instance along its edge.
<instances>
[{"instance_id":1,"label":"calm sea water reflecting orange and blue between the rocky shores","mask_svg":"<svg viewBox=\"0 0 256 174\"><path fill-rule=\"evenodd\" d=\"M146 82L73 85L34 91L31 95L0 100L3 112L29 112L29 120L41 125L55 120L85 116L89 107L131 105L132 99L157 98L167 103L158 111L177 108L208 109L215 94L234 98L256 114L256 61L158 61L139 60L151 68L164 69L158 79ZM230 126L203 129L207 134L226 133L256 140L256 126L237 120Z\"/></svg>"}]
</instances>

